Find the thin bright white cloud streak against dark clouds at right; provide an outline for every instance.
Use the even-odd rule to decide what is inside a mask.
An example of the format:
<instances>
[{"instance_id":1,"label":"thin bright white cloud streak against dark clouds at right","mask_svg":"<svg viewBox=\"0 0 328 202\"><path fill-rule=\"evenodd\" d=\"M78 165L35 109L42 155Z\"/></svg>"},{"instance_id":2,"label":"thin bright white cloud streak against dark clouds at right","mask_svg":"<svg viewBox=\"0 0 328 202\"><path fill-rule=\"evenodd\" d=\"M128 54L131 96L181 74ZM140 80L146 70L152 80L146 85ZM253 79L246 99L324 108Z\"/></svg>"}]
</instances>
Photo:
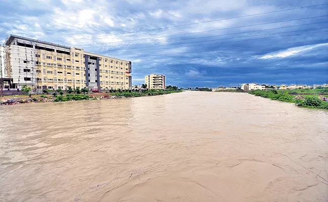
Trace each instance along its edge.
<instances>
[{"instance_id":1,"label":"thin bright white cloud streak against dark clouds at right","mask_svg":"<svg viewBox=\"0 0 328 202\"><path fill-rule=\"evenodd\" d=\"M299 47L288 48L285 51L279 51L279 52L275 52L275 53L266 54L266 55L260 57L260 59L286 58L286 57L294 56L298 53L310 51L314 48L317 48L320 46L325 46L325 45L328 45L328 43L320 43L320 44L316 44L316 45L304 45L304 46L299 46Z\"/></svg>"}]
</instances>

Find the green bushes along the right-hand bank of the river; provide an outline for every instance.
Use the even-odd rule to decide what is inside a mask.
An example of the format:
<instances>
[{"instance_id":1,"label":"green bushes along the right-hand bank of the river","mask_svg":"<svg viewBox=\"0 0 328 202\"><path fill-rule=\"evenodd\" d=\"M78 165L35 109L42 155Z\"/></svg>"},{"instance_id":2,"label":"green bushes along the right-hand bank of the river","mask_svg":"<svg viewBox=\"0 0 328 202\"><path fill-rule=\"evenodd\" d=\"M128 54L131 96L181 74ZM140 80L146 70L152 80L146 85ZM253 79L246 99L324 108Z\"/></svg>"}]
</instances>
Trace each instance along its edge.
<instances>
[{"instance_id":1,"label":"green bushes along the right-hand bank of the river","mask_svg":"<svg viewBox=\"0 0 328 202\"><path fill-rule=\"evenodd\" d=\"M304 95L296 96L289 93L286 90L253 90L248 93L255 96L261 96L270 98L273 100L279 100L287 103L295 103L296 106L306 108L316 108L328 110L328 98L321 95Z\"/></svg>"}]
</instances>

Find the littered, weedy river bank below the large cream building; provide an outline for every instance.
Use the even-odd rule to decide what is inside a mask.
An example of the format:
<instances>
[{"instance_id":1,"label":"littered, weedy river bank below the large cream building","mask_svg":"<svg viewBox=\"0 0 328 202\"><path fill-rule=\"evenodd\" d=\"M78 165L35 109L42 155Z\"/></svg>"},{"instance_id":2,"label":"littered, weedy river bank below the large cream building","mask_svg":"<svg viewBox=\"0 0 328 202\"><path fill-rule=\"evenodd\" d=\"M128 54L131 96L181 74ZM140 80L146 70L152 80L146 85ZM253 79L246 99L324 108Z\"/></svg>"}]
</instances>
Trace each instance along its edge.
<instances>
[{"instance_id":1,"label":"littered, weedy river bank below the large cream building","mask_svg":"<svg viewBox=\"0 0 328 202\"><path fill-rule=\"evenodd\" d=\"M114 92L114 93L98 93L98 94L66 94L58 96L50 96L46 94L19 97L3 97L0 100L0 105L18 105L27 103L51 103L51 102L67 102L73 100L99 100L99 99L115 99L126 97L142 97L170 94L175 92L182 92L182 90L148 90L143 92Z\"/></svg>"}]
</instances>

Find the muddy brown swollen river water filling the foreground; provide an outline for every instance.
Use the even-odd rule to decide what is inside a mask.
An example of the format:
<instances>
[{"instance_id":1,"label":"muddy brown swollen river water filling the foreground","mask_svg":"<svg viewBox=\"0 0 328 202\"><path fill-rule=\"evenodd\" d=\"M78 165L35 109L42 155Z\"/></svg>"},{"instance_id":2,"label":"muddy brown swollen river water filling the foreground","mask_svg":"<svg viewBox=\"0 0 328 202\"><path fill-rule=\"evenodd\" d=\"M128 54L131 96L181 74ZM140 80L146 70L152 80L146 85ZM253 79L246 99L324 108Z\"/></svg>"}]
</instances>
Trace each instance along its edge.
<instances>
[{"instance_id":1,"label":"muddy brown swollen river water filling the foreground","mask_svg":"<svg viewBox=\"0 0 328 202\"><path fill-rule=\"evenodd\" d=\"M328 201L328 113L246 93L0 106L0 201Z\"/></svg>"}]
</instances>

